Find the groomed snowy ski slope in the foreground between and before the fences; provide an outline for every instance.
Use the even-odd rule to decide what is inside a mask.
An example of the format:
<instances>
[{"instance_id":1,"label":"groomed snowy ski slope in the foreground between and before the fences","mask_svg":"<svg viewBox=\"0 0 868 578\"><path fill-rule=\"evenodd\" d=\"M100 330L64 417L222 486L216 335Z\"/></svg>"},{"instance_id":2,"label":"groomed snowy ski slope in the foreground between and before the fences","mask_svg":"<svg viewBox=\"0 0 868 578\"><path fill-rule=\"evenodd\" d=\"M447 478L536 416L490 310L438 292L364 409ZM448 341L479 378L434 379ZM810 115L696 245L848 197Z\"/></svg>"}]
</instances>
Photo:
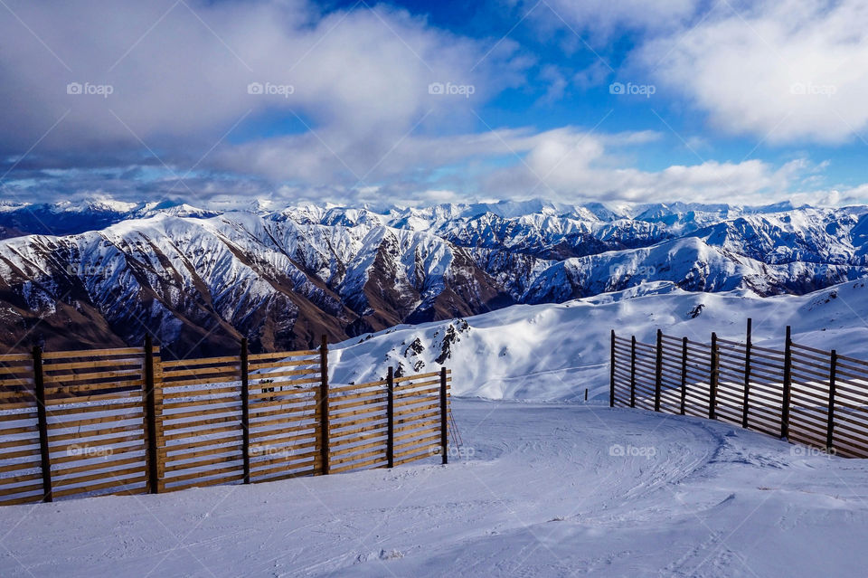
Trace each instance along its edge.
<instances>
[{"instance_id":1,"label":"groomed snowy ski slope in the foreground between and before the fences","mask_svg":"<svg viewBox=\"0 0 868 578\"><path fill-rule=\"evenodd\" d=\"M473 455L448 467L0 508L0 575L789 578L868 567L865 460L599 405L454 409Z\"/></svg>"}]
</instances>

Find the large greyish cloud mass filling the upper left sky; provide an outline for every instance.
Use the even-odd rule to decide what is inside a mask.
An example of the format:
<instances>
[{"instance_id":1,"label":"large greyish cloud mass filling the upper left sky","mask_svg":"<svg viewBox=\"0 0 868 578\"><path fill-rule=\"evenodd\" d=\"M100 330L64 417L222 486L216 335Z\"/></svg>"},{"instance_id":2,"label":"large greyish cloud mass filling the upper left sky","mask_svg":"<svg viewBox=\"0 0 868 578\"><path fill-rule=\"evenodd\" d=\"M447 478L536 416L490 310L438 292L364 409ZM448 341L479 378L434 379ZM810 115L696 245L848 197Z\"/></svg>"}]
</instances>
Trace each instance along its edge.
<instances>
[{"instance_id":1,"label":"large greyish cloud mass filling the upper left sky","mask_svg":"<svg viewBox=\"0 0 868 578\"><path fill-rule=\"evenodd\" d=\"M242 118L268 114L370 143L474 102L431 94L431 83L472 85L484 99L511 81L499 52L474 69L484 46L384 6L320 14L305 0L8 5L17 18L0 18L0 146L10 150L31 147L59 118L42 150L140 148L139 139L157 153L179 141L207 149Z\"/></svg>"}]
</instances>

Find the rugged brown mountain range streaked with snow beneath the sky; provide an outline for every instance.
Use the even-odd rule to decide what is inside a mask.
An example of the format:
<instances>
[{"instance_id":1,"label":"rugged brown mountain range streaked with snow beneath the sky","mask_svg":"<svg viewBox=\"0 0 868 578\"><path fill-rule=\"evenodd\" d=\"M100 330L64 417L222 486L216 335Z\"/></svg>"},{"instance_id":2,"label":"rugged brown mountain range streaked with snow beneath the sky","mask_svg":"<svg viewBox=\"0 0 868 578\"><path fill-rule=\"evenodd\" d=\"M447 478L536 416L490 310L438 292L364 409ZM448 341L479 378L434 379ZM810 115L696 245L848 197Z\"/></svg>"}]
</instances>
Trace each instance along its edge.
<instances>
[{"instance_id":1,"label":"rugged brown mountain range streaked with snow beneath the sky","mask_svg":"<svg viewBox=\"0 0 868 578\"><path fill-rule=\"evenodd\" d=\"M805 294L868 275L868 207L382 210L0 204L0 345L166 355L307 347L400 324L658 287Z\"/></svg>"}]
</instances>

